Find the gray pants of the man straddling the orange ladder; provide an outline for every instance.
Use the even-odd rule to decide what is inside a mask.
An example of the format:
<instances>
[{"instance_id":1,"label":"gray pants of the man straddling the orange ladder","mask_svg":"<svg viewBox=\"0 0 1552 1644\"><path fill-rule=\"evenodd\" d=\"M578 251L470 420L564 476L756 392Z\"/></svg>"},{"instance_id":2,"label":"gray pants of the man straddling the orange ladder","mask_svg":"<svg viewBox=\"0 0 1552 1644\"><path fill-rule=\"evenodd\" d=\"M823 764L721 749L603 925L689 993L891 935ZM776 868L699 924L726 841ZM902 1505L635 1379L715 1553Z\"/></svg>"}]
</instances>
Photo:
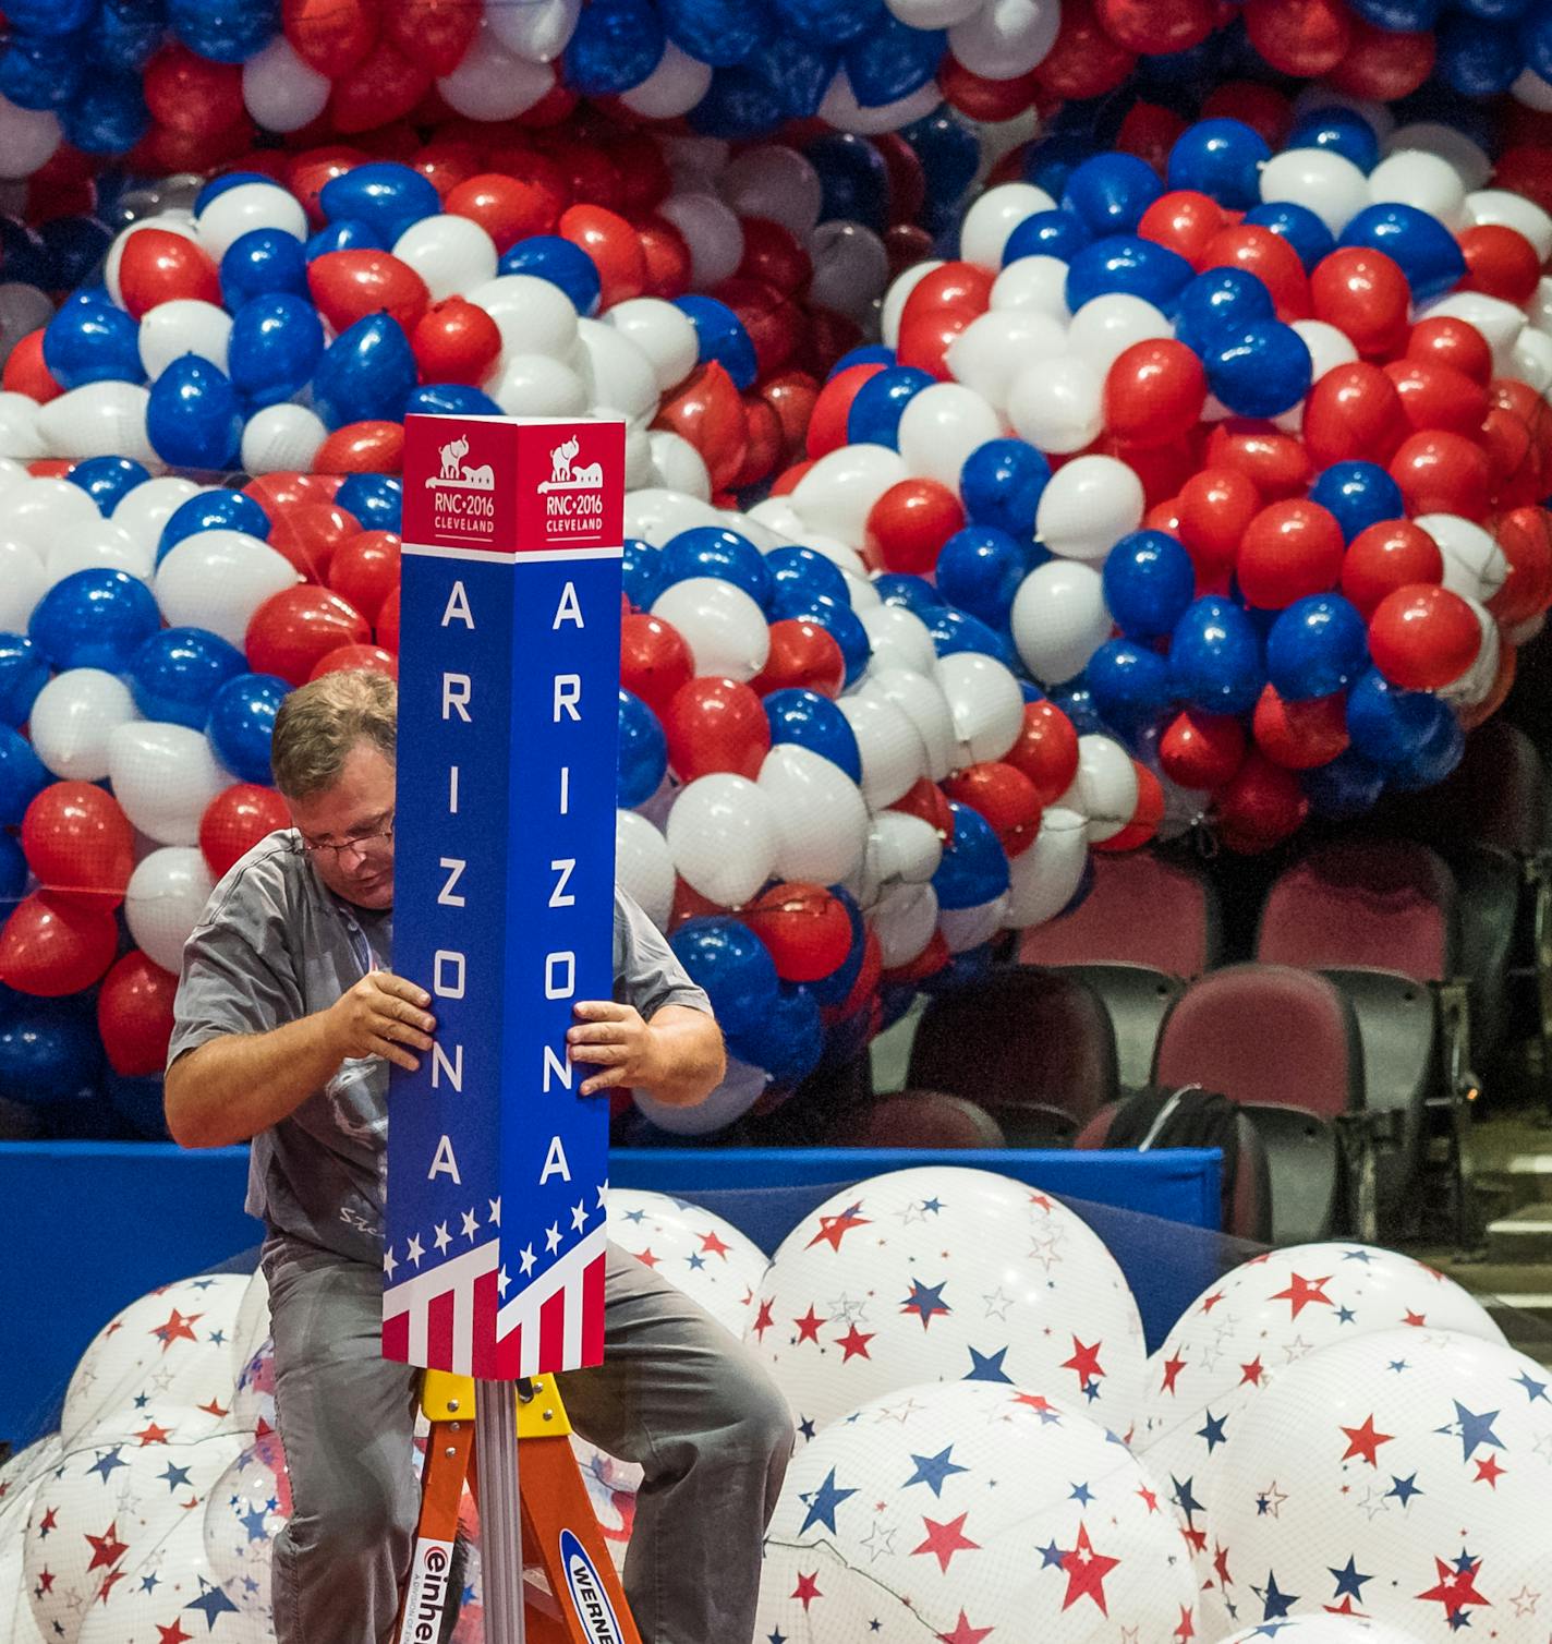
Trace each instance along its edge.
<instances>
[{"instance_id":1,"label":"gray pants of the man straddling the orange ladder","mask_svg":"<svg viewBox=\"0 0 1552 1644\"><path fill-rule=\"evenodd\" d=\"M375 1268L289 1236L263 1251L294 1511L275 1540L278 1644L381 1644L409 1565L418 1371L381 1358ZM608 1248L605 1361L562 1381L572 1425L646 1478L625 1562L644 1644L748 1644L792 1422L756 1360Z\"/></svg>"}]
</instances>

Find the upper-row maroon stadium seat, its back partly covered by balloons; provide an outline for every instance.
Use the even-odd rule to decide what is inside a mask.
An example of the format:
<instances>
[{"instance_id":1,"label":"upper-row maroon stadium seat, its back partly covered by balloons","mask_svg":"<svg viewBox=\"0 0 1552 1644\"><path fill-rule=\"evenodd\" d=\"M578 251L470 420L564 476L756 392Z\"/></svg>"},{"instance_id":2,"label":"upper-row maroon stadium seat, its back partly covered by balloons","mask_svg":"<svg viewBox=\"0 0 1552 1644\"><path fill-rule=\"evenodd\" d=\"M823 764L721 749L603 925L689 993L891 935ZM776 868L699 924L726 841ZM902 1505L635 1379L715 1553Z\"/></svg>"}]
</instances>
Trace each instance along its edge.
<instances>
[{"instance_id":1,"label":"upper-row maroon stadium seat, its back partly covered by balloons","mask_svg":"<svg viewBox=\"0 0 1552 1644\"><path fill-rule=\"evenodd\" d=\"M1093 889L1026 931L1019 960L1087 981L1110 1011L1125 1087L1148 1083L1159 1026L1192 977L1218 962L1218 903L1195 863L1156 852L1093 857Z\"/></svg>"}]
</instances>

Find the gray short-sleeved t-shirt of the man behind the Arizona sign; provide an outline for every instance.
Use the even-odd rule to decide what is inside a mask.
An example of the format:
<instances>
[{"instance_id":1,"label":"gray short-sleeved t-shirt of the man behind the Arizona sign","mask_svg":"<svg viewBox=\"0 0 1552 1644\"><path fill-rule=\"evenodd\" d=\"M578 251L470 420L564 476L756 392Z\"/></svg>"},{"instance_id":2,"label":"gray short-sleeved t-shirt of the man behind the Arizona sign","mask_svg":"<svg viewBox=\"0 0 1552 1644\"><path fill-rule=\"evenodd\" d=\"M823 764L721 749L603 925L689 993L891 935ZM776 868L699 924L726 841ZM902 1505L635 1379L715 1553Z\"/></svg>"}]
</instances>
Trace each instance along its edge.
<instances>
[{"instance_id":1,"label":"gray short-sleeved t-shirt of the man behind the Arizona sign","mask_svg":"<svg viewBox=\"0 0 1552 1644\"><path fill-rule=\"evenodd\" d=\"M329 891L279 830L210 893L182 950L168 1067L222 1034L256 1034L327 1009L368 972L393 963L393 911ZM615 891L615 998L651 1018L664 1004L710 1011L672 949ZM388 1138L388 1064L347 1060L289 1118L253 1138L252 1215L358 1261L380 1261Z\"/></svg>"}]
</instances>

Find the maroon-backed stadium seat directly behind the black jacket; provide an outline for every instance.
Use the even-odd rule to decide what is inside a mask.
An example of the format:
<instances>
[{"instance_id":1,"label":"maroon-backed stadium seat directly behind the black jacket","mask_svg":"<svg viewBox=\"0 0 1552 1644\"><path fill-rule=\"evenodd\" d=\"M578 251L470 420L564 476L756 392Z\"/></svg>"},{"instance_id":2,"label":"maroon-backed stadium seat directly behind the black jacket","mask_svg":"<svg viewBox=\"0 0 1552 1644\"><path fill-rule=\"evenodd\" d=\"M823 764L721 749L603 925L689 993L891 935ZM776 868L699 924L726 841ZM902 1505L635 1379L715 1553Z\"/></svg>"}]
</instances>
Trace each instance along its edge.
<instances>
[{"instance_id":1,"label":"maroon-backed stadium seat directly behind the black jacket","mask_svg":"<svg viewBox=\"0 0 1552 1644\"><path fill-rule=\"evenodd\" d=\"M1202 977L1164 1021L1152 1077L1245 1106L1266 1151L1276 1243L1340 1226L1338 1123L1363 1108L1363 1049L1335 983L1286 965Z\"/></svg>"}]
</instances>

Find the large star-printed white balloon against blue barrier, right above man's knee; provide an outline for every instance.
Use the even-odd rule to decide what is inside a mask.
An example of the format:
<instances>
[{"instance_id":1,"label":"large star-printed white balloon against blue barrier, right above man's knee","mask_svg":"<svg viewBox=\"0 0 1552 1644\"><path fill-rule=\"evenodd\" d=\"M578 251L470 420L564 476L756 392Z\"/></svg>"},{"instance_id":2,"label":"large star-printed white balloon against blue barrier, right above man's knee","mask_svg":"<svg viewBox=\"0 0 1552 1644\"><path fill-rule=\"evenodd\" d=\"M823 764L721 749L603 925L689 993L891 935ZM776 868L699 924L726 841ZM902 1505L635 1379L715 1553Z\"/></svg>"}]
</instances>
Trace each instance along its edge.
<instances>
[{"instance_id":1,"label":"large star-printed white balloon against blue barrier, right above man's knee","mask_svg":"<svg viewBox=\"0 0 1552 1644\"><path fill-rule=\"evenodd\" d=\"M922 1381L1060 1391L1126 1434L1144 1365L1121 1268L1075 1212L944 1166L871 1177L804 1217L745 1340L804 1438Z\"/></svg>"}]
</instances>

